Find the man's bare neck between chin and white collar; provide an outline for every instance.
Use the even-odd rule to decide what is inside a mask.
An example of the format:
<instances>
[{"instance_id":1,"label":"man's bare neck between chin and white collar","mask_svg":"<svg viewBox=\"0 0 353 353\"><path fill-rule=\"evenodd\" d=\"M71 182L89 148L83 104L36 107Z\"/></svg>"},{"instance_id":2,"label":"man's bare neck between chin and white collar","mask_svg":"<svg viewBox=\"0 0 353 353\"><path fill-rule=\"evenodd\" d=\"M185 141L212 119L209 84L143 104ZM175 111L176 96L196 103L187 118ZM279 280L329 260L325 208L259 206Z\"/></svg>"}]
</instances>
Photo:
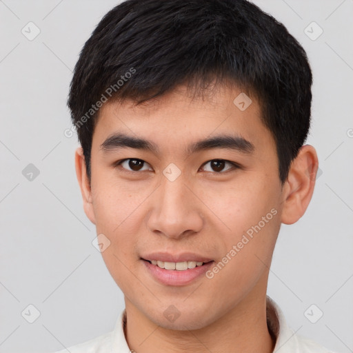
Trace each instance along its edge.
<instances>
[{"instance_id":1,"label":"man's bare neck between chin and white collar","mask_svg":"<svg viewBox=\"0 0 353 353\"><path fill-rule=\"evenodd\" d=\"M210 325L199 330L169 330L156 325L125 299L125 339L136 353L234 352L272 353L276 339L269 330L266 296L247 296Z\"/></svg>"}]
</instances>

